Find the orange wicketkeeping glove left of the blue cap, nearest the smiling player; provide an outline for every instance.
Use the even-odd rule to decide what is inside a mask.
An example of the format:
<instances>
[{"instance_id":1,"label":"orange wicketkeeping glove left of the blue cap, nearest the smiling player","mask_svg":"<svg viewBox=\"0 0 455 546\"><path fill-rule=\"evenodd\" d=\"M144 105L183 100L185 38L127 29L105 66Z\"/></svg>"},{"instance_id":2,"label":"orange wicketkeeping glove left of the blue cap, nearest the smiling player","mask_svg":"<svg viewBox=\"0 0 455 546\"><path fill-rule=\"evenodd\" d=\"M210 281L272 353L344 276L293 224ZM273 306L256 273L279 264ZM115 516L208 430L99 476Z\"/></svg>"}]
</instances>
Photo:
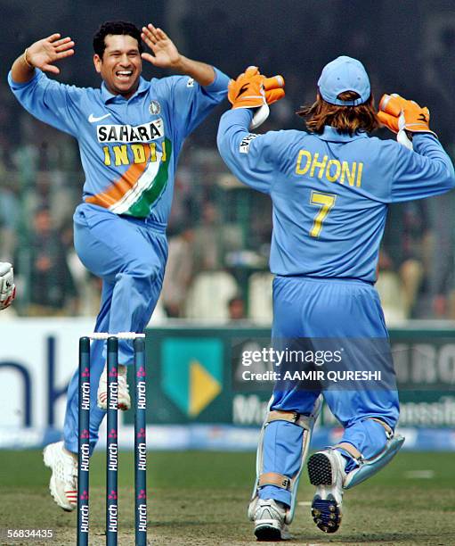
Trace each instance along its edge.
<instances>
[{"instance_id":1,"label":"orange wicketkeeping glove left of the blue cap, nearest the smiling player","mask_svg":"<svg viewBox=\"0 0 455 546\"><path fill-rule=\"evenodd\" d=\"M250 128L259 127L269 115L268 104L279 101L284 93L282 76L265 78L256 66L249 66L238 79L231 80L228 99L232 108L255 108Z\"/></svg>"}]
</instances>

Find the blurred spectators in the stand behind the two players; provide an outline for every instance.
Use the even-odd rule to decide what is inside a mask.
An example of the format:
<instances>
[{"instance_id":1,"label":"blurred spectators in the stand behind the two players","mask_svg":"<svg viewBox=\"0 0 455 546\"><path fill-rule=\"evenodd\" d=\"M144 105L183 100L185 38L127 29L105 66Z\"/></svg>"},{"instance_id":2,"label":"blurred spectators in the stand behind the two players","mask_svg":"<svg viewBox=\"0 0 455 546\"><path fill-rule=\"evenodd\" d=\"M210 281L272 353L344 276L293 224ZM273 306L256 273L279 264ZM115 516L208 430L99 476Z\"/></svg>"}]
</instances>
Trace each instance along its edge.
<instances>
[{"instance_id":1,"label":"blurred spectators in the stand behind the two players","mask_svg":"<svg viewBox=\"0 0 455 546\"><path fill-rule=\"evenodd\" d=\"M2 138L0 163L0 260L13 261L19 286L12 312L93 315L99 281L78 261L72 242L83 184L76 145L18 115L28 138L14 150ZM272 127L274 120L267 123ZM378 263L389 324L455 318L453 199L449 194L390 208ZM215 148L191 140L175 180L158 316L268 323L271 232L268 197L240 185Z\"/></svg>"}]
</instances>

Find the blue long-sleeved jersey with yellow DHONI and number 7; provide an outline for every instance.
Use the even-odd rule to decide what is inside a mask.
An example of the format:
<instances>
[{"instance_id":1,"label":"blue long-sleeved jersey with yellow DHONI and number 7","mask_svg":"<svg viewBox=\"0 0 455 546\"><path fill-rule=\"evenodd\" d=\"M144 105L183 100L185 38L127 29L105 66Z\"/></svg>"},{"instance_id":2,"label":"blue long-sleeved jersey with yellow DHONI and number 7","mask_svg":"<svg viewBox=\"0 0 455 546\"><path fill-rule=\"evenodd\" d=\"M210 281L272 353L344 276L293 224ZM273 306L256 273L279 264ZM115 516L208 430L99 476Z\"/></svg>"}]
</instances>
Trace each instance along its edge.
<instances>
[{"instance_id":1,"label":"blue long-sleeved jersey with yellow DHONI and number 7","mask_svg":"<svg viewBox=\"0 0 455 546\"><path fill-rule=\"evenodd\" d=\"M455 186L435 136L414 135L414 152L366 133L248 132L252 112L225 112L223 160L242 182L270 194L272 273L376 280L388 203L443 194Z\"/></svg>"}]
</instances>

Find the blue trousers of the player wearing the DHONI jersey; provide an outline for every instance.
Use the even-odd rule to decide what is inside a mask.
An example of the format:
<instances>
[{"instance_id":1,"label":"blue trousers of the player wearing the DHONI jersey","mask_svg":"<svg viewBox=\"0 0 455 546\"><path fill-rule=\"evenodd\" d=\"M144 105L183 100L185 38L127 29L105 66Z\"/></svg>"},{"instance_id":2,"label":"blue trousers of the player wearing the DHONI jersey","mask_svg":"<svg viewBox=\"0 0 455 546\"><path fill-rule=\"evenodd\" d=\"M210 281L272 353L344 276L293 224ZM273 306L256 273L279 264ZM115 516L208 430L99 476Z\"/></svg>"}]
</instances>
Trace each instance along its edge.
<instances>
[{"instance_id":1,"label":"blue trousers of the player wearing the DHONI jersey","mask_svg":"<svg viewBox=\"0 0 455 546\"><path fill-rule=\"evenodd\" d=\"M386 338L384 315L375 288L358 280L275 277L273 281L274 339L297 338ZM388 342L386 348L390 351ZM375 358L366 354L365 359ZM369 362L374 368L374 362ZM394 379L393 379L394 385ZM298 385L283 389L275 385L271 409L309 415L319 396L317 390ZM324 390L324 400L345 427L340 442L351 443L370 459L386 445L386 431L378 418L394 429L399 415L396 386L383 390ZM295 476L301 466L303 429L285 421L273 421L264 431L263 472ZM345 454L345 453L344 453ZM354 467L348 460L347 469ZM290 505L290 492L272 485L259 491L261 499Z\"/></svg>"}]
</instances>

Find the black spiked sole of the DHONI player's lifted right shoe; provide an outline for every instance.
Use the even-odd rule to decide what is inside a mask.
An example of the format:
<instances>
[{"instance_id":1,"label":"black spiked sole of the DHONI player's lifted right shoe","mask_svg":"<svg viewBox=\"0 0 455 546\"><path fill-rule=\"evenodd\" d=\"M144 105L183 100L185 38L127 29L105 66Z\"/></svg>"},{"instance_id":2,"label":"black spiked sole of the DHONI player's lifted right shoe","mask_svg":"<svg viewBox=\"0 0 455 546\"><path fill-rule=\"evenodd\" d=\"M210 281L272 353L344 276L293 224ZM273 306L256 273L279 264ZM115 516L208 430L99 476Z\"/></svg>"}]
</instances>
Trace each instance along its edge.
<instances>
[{"instance_id":1,"label":"black spiked sole of the DHONI player's lifted right shoe","mask_svg":"<svg viewBox=\"0 0 455 546\"><path fill-rule=\"evenodd\" d=\"M329 457L324 453L314 453L308 459L308 475L310 483L316 487L332 485L333 473ZM341 506L330 493L325 499L321 499L321 496L316 494L312 503L312 516L314 523L321 531L335 533L341 525Z\"/></svg>"}]
</instances>

